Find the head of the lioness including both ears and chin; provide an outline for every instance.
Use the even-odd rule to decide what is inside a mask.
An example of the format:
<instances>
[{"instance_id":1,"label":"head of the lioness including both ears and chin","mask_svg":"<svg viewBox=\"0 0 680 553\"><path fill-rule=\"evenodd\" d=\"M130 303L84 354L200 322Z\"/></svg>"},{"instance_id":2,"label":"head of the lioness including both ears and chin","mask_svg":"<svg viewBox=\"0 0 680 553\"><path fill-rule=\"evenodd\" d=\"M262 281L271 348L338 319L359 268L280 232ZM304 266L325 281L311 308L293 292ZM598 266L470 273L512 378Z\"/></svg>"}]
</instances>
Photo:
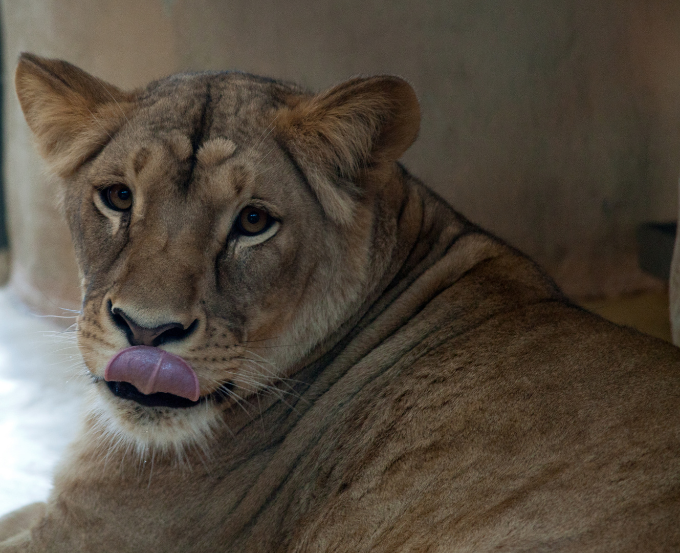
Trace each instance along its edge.
<instances>
[{"instance_id":1,"label":"head of the lioness including both ears and chin","mask_svg":"<svg viewBox=\"0 0 680 553\"><path fill-rule=\"evenodd\" d=\"M411 88L374 80L315 97L213 73L122 93L22 56L22 109L64 180L78 342L107 433L141 449L205 441L360 309L389 256L380 184L418 130Z\"/></svg>"}]
</instances>

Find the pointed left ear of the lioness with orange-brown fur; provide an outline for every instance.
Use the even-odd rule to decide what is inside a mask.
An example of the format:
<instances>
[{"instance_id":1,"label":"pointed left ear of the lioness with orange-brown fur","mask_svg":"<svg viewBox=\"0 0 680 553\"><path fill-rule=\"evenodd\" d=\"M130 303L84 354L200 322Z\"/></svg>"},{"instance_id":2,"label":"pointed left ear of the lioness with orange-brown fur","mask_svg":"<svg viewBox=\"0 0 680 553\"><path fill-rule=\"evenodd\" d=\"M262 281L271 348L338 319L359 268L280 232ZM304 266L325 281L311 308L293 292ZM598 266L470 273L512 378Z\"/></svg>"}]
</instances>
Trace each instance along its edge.
<instances>
[{"instance_id":1,"label":"pointed left ear of the lioness with orange-brown fur","mask_svg":"<svg viewBox=\"0 0 680 553\"><path fill-rule=\"evenodd\" d=\"M16 95L40 153L60 176L101 150L133 108L133 94L61 60L24 52Z\"/></svg>"}]
</instances>

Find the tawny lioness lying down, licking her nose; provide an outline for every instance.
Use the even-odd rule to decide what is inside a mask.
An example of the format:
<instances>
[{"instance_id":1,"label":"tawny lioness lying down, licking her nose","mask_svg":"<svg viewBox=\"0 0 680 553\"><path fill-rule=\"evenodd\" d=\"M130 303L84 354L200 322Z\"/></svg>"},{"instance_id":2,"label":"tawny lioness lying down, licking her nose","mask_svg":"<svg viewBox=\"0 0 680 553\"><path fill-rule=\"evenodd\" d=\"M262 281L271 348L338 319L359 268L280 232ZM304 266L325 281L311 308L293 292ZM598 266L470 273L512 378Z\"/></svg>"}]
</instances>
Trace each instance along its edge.
<instances>
[{"instance_id":1,"label":"tawny lioness lying down, licking her nose","mask_svg":"<svg viewBox=\"0 0 680 553\"><path fill-rule=\"evenodd\" d=\"M124 92L22 54L92 380L0 552L680 550L680 351L397 163L400 78Z\"/></svg>"}]
</instances>

